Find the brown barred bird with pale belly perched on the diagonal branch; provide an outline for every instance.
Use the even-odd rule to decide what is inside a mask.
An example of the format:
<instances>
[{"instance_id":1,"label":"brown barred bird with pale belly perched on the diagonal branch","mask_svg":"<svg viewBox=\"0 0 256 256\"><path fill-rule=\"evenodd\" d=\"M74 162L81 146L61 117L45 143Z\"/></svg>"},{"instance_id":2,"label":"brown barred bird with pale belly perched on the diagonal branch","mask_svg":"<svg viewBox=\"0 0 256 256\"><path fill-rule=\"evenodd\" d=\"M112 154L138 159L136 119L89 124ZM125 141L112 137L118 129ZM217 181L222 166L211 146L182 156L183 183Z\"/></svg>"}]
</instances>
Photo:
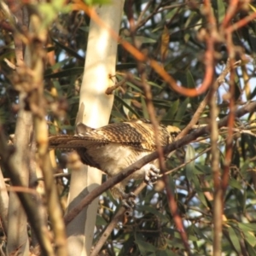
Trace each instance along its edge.
<instances>
[{"instance_id":1,"label":"brown barred bird with pale belly perched on the diagonal branch","mask_svg":"<svg viewBox=\"0 0 256 256\"><path fill-rule=\"evenodd\" d=\"M160 145L172 143L179 132L176 126L158 125ZM108 177L113 177L156 150L154 126L147 119L113 123L96 129L79 123L73 136L50 136L49 148L76 150L85 165L96 167ZM155 182L159 173L158 160L153 160L116 184L111 194L116 199L131 198L132 194L125 193L125 185L131 179L144 178L147 183ZM131 201L128 204L132 204ZM127 203L124 205L127 206Z\"/></svg>"}]
</instances>

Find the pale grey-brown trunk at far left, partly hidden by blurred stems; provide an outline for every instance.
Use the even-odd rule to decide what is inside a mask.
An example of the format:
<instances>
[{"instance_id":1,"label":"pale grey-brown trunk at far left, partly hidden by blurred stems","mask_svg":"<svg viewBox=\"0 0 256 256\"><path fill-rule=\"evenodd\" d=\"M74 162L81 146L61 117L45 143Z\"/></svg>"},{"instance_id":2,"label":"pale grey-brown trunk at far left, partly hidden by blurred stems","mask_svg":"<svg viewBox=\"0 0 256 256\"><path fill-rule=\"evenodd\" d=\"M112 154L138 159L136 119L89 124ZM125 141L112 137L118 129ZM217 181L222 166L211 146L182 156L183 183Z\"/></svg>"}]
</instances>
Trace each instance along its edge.
<instances>
[{"instance_id":1,"label":"pale grey-brown trunk at far left, partly hidden by blurred stems","mask_svg":"<svg viewBox=\"0 0 256 256\"><path fill-rule=\"evenodd\" d=\"M18 3L14 3L17 4ZM26 7L19 9L15 13L16 18L23 26L28 26L28 14ZM30 67L31 56L27 49L23 56L24 48L19 35L15 34L15 56L16 56L16 72L24 65ZM23 59L24 57L24 59ZM18 113L17 123L15 127L15 154L12 156L15 166L20 170L20 179L28 186L29 168L28 168L28 144L30 143L32 134L32 113L24 110L24 98L26 93L20 92L19 104L20 111ZM27 218L21 206L20 200L15 192L9 193L9 216L8 216L8 253L15 255L28 255L29 241L27 236Z\"/></svg>"}]
</instances>

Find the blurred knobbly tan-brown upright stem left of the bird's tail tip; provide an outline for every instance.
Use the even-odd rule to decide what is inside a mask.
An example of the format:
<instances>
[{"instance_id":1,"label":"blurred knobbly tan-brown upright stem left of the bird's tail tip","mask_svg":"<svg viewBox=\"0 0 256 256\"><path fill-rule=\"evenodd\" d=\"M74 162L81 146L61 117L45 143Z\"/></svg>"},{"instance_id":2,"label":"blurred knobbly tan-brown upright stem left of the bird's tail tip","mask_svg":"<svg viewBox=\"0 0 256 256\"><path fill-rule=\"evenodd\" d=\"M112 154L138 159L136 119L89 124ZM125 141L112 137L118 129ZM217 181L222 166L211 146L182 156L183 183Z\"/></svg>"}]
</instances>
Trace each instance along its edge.
<instances>
[{"instance_id":1,"label":"blurred knobbly tan-brown upright stem left of the bird's tail tip","mask_svg":"<svg viewBox=\"0 0 256 256\"><path fill-rule=\"evenodd\" d=\"M37 44L31 44L33 77L32 83L37 84L37 90L32 90L30 108L33 113L33 124L35 139L38 143L38 162L44 175L44 186L49 219L52 230L55 235L55 253L58 256L67 255L66 230L62 218L62 209L59 201L59 195L53 177L53 168L49 159L48 152L48 127L45 119L44 102L44 59L37 56L44 56L44 44L47 38L47 31L40 27L41 17L37 14L30 17L32 32L37 38ZM39 110L39 111L38 111Z\"/></svg>"}]
</instances>

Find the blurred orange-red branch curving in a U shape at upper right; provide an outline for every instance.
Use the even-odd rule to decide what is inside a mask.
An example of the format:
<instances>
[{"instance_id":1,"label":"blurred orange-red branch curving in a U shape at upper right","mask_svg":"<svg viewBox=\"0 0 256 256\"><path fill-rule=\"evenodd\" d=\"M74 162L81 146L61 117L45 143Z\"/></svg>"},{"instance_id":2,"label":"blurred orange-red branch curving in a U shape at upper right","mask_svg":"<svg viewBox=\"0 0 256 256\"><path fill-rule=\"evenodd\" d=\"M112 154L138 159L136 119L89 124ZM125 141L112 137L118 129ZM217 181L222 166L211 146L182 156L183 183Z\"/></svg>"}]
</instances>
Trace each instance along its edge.
<instances>
[{"instance_id":1,"label":"blurred orange-red branch curving in a U shape at upper right","mask_svg":"<svg viewBox=\"0 0 256 256\"><path fill-rule=\"evenodd\" d=\"M236 4L237 0L233 0L231 1L232 4ZM231 4L230 3L230 4ZM206 39L206 44L207 44L207 51L205 54L205 66L206 66L206 72L205 72L205 77L203 79L203 83L195 89L189 89L189 88L185 88L183 86L179 86L177 85L175 79L172 78L172 76L170 76L166 70L164 69L164 67L160 66L158 61L154 61L148 58L147 55L144 55L142 52L140 52L138 49L136 49L133 45L129 44L128 42L122 40L122 38L119 38L119 35L116 32L113 32L113 30L106 26L104 24L104 22L99 18L98 15L96 15L96 12L94 9L90 8L89 6L85 5L83 2L81 2L80 0L75 0L73 3L73 9L83 9L84 12L90 16L90 18L92 20L94 20L99 26L105 27L108 32L110 33L110 35L112 36L112 38L114 38L115 40L119 41L120 44L122 44L122 46L131 54L133 55L137 61L148 61L148 65L150 67L154 68L154 71L156 73L158 73L162 79L164 79L167 84L169 84L170 86L172 86L173 90L176 90L178 93L184 95L184 96L199 96L201 95L203 92L205 92L209 86L211 85L211 81L212 81L212 76L214 73L214 44L215 44L215 40L218 41L219 37L218 37L218 33L217 31L214 31L216 33L209 33L209 35L207 35L207 39ZM211 26L216 26L216 20L214 19L214 16L212 15L212 11L211 11L211 1L206 0L205 1L205 9L207 10L207 21L209 24L209 27ZM230 7L229 9L229 16L226 18L226 20L224 21L224 25L226 26L226 23L230 20L230 15L235 15L236 12L234 11L234 9L232 9ZM251 15L249 16L249 18L245 18L243 19L243 21L237 22L237 27L240 26L245 26L250 20L253 20L253 18L255 17L255 15ZM212 29L212 28L211 28ZM236 27L230 27L227 28L227 30L230 29L231 31L234 31L236 29Z\"/></svg>"}]
</instances>

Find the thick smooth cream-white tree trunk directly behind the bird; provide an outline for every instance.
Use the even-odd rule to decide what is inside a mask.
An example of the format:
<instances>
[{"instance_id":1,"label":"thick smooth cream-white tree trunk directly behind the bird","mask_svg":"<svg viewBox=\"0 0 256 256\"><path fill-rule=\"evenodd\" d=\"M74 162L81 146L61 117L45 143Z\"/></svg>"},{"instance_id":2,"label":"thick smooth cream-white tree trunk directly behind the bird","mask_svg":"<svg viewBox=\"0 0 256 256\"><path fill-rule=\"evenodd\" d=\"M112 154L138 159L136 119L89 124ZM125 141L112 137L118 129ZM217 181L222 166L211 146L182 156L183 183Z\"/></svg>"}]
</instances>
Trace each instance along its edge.
<instances>
[{"instance_id":1,"label":"thick smooth cream-white tree trunk directly behind the bird","mask_svg":"<svg viewBox=\"0 0 256 256\"><path fill-rule=\"evenodd\" d=\"M112 4L97 7L96 13L108 27L118 33L123 7L124 0L113 0ZM114 79L109 76L115 74L116 54L117 42L105 28L91 20L79 102L79 121L90 127L108 124L113 95L106 95L105 90L113 85ZM73 172L67 211L101 183L102 172L90 166L83 166L83 170ZM98 199L67 225L69 255L90 254L97 207Z\"/></svg>"}]
</instances>

